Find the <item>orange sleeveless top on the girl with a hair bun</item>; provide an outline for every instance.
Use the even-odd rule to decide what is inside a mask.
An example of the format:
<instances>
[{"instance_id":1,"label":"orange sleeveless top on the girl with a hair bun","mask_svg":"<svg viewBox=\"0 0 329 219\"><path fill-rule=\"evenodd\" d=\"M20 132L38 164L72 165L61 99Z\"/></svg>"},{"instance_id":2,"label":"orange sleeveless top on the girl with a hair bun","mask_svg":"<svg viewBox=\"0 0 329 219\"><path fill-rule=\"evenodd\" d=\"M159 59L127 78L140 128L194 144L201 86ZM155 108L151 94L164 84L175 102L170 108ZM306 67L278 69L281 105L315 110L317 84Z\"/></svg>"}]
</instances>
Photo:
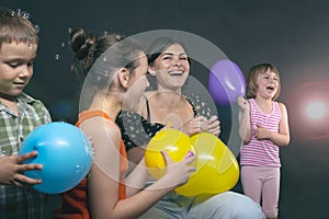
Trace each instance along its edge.
<instances>
[{"instance_id":1,"label":"orange sleeveless top on the girl with a hair bun","mask_svg":"<svg viewBox=\"0 0 329 219\"><path fill-rule=\"evenodd\" d=\"M76 126L91 117L102 116L110 119L110 116L102 111L84 111L79 114L79 120ZM121 160L120 160L120 185L118 185L118 200L126 198L125 174L128 170L127 154L124 142L121 140ZM61 206L54 211L55 219L90 219L89 205L87 197L87 178L83 178L72 189L60 194Z\"/></svg>"}]
</instances>

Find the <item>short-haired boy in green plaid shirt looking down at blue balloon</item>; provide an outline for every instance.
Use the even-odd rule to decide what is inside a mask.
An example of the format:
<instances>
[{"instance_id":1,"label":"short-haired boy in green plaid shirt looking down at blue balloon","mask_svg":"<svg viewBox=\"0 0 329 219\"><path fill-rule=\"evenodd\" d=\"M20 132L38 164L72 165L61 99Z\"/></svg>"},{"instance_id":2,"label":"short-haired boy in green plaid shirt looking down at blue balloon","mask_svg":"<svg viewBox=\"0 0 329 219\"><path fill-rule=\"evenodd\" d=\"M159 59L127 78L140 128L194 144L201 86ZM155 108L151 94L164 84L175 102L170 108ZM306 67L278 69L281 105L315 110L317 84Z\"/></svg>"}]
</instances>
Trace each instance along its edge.
<instances>
[{"instance_id":1,"label":"short-haired boy in green plaid shirt looking down at blue balloon","mask_svg":"<svg viewBox=\"0 0 329 219\"><path fill-rule=\"evenodd\" d=\"M21 142L37 126L50 122L44 104L23 92L33 74L37 30L24 16L0 8L0 214L1 218L45 218L46 196L31 188L41 183L24 171L39 164L22 164L36 157L18 155Z\"/></svg>"}]
</instances>

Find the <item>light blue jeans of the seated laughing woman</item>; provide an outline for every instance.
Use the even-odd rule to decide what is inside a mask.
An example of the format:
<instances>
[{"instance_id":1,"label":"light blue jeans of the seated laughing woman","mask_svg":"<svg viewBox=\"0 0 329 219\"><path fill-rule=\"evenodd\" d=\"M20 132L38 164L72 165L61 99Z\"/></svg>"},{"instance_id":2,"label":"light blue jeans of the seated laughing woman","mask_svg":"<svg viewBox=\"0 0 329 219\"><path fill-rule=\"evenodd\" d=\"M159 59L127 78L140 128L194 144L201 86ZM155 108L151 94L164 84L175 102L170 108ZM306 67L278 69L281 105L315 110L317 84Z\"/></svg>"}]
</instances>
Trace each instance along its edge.
<instances>
[{"instance_id":1,"label":"light blue jeans of the seated laughing woman","mask_svg":"<svg viewBox=\"0 0 329 219\"><path fill-rule=\"evenodd\" d=\"M238 193L184 197L171 192L140 218L264 219L265 217L258 204Z\"/></svg>"}]
</instances>

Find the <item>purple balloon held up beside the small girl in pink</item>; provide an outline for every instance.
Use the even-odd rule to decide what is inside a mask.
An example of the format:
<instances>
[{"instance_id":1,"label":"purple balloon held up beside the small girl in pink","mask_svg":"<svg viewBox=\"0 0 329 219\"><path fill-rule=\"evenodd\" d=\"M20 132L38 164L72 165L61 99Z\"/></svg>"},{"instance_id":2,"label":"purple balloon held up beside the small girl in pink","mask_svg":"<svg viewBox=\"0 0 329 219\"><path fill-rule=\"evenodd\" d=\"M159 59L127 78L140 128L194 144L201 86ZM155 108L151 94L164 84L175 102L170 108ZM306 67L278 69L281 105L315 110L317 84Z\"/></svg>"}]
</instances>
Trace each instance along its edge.
<instances>
[{"instance_id":1,"label":"purple balloon held up beside the small girl in pink","mask_svg":"<svg viewBox=\"0 0 329 219\"><path fill-rule=\"evenodd\" d=\"M246 80L240 68L231 60L220 59L211 69L208 90L215 103L230 105L246 94Z\"/></svg>"}]
</instances>

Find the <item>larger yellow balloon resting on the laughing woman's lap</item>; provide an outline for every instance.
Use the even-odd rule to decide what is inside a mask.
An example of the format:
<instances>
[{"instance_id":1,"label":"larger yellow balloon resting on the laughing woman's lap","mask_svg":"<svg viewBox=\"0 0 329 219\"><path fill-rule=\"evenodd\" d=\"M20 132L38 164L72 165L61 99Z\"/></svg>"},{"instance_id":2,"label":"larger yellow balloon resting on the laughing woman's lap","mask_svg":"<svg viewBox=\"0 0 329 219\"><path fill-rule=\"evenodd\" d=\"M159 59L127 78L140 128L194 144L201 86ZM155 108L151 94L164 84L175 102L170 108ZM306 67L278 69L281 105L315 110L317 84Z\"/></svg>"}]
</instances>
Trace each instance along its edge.
<instances>
[{"instance_id":1,"label":"larger yellow balloon resting on the laughing woman's lap","mask_svg":"<svg viewBox=\"0 0 329 219\"><path fill-rule=\"evenodd\" d=\"M196 172L175 189L183 196L218 194L232 188L239 178L236 157L216 136L202 132L191 137L196 152Z\"/></svg>"}]
</instances>

